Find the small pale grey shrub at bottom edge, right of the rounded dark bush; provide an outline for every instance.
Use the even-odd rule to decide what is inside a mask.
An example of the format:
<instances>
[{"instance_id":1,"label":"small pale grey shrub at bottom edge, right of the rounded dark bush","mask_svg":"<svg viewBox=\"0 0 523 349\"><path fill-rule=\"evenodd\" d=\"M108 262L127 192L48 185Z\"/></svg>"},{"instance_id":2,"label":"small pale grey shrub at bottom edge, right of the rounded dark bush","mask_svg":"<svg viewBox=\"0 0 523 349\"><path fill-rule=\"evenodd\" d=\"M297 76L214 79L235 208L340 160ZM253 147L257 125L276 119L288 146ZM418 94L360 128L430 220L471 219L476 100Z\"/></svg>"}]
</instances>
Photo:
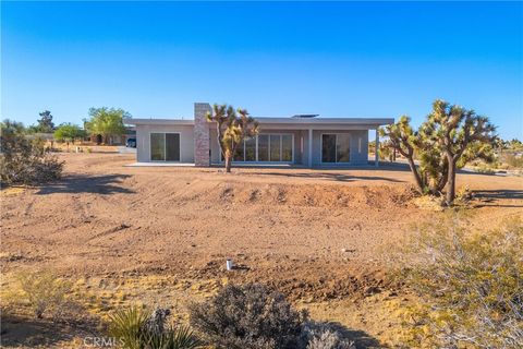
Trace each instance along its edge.
<instances>
[{"instance_id":1,"label":"small pale grey shrub at bottom edge, right of the rounded dark bush","mask_svg":"<svg viewBox=\"0 0 523 349\"><path fill-rule=\"evenodd\" d=\"M343 338L330 323L307 322L302 328L301 347L305 349L355 349L353 341Z\"/></svg>"}]
</instances>

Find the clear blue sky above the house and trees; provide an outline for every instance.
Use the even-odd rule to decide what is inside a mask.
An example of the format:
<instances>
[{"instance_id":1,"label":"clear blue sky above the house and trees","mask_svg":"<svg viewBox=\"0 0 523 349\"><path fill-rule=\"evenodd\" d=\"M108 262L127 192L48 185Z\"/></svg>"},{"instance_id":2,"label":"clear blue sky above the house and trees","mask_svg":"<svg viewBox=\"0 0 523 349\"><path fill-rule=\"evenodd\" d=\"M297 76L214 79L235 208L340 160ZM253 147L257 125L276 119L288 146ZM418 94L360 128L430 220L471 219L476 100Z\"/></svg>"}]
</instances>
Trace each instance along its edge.
<instances>
[{"instance_id":1,"label":"clear blue sky above the house and trees","mask_svg":"<svg viewBox=\"0 0 523 349\"><path fill-rule=\"evenodd\" d=\"M1 2L1 117L394 117L435 98L523 139L522 2Z\"/></svg>"}]
</instances>

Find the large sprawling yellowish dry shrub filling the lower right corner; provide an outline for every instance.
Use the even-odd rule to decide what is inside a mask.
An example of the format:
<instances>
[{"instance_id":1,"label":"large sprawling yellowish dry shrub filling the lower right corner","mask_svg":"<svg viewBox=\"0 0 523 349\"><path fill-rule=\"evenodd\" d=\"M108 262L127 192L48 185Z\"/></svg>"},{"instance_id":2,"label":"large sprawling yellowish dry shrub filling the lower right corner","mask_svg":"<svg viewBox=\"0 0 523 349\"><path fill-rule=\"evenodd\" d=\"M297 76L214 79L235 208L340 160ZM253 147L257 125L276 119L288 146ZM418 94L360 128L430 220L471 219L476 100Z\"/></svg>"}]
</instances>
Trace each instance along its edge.
<instances>
[{"instance_id":1,"label":"large sprawling yellowish dry shrub filling the lower right corner","mask_svg":"<svg viewBox=\"0 0 523 349\"><path fill-rule=\"evenodd\" d=\"M523 224L471 232L457 220L422 227L403 250L402 280L423 302L410 310L410 346L523 346Z\"/></svg>"}]
</instances>

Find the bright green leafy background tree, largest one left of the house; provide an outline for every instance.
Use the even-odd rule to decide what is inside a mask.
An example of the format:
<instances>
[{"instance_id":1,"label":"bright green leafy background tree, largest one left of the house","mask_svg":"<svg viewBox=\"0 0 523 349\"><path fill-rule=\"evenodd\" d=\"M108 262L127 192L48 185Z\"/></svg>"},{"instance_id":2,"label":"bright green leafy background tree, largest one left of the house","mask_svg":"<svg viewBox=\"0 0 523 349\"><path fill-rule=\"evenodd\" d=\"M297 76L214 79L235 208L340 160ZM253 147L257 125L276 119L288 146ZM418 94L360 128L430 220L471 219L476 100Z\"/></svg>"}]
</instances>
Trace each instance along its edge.
<instances>
[{"instance_id":1,"label":"bright green leafy background tree, largest one left of the house","mask_svg":"<svg viewBox=\"0 0 523 349\"><path fill-rule=\"evenodd\" d=\"M104 143L108 144L110 136L125 133L123 118L130 117L131 115L123 109L90 108L89 120L85 125L90 133L101 134Z\"/></svg>"}]
</instances>

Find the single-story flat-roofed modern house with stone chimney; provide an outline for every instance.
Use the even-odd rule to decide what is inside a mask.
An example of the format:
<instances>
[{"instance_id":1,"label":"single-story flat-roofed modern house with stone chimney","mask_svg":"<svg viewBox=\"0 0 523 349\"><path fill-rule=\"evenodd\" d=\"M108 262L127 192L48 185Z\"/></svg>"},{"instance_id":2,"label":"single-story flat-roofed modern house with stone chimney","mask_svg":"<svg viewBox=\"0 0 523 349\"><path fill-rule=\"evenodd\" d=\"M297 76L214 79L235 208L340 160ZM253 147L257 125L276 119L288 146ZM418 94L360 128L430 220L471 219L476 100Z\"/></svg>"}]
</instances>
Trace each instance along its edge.
<instances>
[{"instance_id":1,"label":"single-story flat-roofed modern house with stone chimney","mask_svg":"<svg viewBox=\"0 0 523 349\"><path fill-rule=\"evenodd\" d=\"M207 103L194 105L194 120L125 119L136 127L138 163L222 163L216 123L206 120ZM368 131L392 118L319 118L313 115L259 118L259 134L239 145L234 164L335 167L368 164ZM378 154L375 159L378 166Z\"/></svg>"}]
</instances>

